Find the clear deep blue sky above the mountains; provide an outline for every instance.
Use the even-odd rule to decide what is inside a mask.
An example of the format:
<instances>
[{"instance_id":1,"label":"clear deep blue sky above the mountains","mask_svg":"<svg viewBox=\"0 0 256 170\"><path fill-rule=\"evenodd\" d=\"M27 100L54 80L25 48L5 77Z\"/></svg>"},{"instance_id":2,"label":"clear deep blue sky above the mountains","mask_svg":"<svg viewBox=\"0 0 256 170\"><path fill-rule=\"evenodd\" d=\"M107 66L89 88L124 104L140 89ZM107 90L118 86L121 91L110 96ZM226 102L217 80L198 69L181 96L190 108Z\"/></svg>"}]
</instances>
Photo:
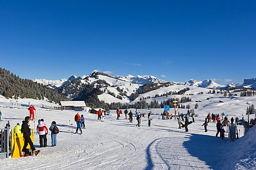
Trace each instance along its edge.
<instances>
[{"instance_id":1,"label":"clear deep blue sky above the mountains","mask_svg":"<svg viewBox=\"0 0 256 170\"><path fill-rule=\"evenodd\" d=\"M255 78L256 1L0 1L0 67L20 78Z\"/></svg>"}]
</instances>

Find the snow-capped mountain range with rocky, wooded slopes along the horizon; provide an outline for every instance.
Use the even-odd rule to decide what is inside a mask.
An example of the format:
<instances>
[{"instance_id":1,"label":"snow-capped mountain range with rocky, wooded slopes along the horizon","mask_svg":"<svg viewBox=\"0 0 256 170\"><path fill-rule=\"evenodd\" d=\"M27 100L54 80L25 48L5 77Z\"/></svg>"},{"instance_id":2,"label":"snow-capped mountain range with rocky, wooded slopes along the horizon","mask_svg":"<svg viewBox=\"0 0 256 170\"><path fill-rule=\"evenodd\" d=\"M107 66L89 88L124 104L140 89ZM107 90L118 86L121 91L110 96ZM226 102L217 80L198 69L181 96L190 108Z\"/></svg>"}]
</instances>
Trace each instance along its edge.
<instances>
[{"instance_id":1,"label":"snow-capped mountain range with rocky, wooded slopes along the horizon","mask_svg":"<svg viewBox=\"0 0 256 170\"><path fill-rule=\"evenodd\" d=\"M105 103L130 103L131 101L153 98L156 94L161 96L169 92L177 92L187 87L190 87L190 89L192 87L204 88L203 91L205 92L209 91L209 89L231 90L235 88L256 88L256 79L244 79L244 83L242 84L230 83L226 85L218 84L213 80L189 80L186 83L176 83L166 82L151 75L137 75L135 77L129 74L126 77L121 75L111 77L106 73L96 70L90 75L83 75L82 77L71 75L68 79L35 79L33 81L58 90L72 100L85 100L89 96L92 96L92 94L97 94L98 99L105 101ZM154 85L145 87L146 84ZM98 90L95 90L95 88L98 88ZM141 88L143 88L143 94L139 92ZM134 98L134 94L137 94L135 95L137 99Z\"/></svg>"}]
</instances>

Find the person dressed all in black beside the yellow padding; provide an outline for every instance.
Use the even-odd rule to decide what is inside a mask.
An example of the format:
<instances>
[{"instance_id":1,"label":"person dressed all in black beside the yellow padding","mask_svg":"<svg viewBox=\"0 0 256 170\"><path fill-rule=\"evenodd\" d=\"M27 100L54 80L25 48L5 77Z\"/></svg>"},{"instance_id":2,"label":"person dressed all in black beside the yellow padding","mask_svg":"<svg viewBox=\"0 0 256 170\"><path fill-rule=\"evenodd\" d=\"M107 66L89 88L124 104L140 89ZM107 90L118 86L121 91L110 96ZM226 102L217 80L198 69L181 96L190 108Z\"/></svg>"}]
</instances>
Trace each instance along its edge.
<instances>
[{"instance_id":1,"label":"person dressed all in black beside the yellow padding","mask_svg":"<svg viewBox=\"0 0 256 170\"><path fill-rule=\"evenodd\" d=\"M29 143L31 150L33 151L33 153L35 155L37 155L40 152L40 150L36 150L36 148L33 145L33 142L30 139L31 132L30 132L30 128L29 128L29 121L30 121L30 117L27 116L27 117L25 117L25 121L22 121L22 125L21 125L21 132L23 133L23 138L25 140L24 146L22 148L23 155L21 155L21 157L25 156L25 151L27 149L28 143Z\"/></svg>"}]
</instances>

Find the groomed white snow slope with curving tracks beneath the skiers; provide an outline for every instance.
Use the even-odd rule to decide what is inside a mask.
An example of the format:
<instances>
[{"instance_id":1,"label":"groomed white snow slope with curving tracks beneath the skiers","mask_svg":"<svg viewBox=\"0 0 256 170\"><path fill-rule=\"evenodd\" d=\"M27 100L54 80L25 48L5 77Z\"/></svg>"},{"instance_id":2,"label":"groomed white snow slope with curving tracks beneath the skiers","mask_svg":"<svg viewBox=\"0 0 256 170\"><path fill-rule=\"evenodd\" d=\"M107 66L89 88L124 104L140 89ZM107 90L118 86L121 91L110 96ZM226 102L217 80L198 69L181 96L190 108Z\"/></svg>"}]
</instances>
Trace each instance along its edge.
<instances>
[{"instance_id":1,"label":"groomed white snow slope with curving tracks beneath the skiers","mask_svg":"<svg viewBox=\"0 0 256 170\"><path fill-rule=\"evenodd\" d=\"M182 87L179 87L182 88ZM204 88L192 88L198 93ZM175 90L173 88L172 90ZM178 89L176 89L178 90ZM207 89L206 89L207 90ZM208 90L207 90L208 91ZM203 94L208 95L208 94ZM186 96L186 94L185 94ZM190 95L200 97L201 95ZM206 96L204 96L206 97ZM219 96L220 97L220 96ZM231 117L242 118L246 102L255 103L256 97L226 98L225 103L218 103L218 96L199 103L195 109L198 117L188 126L189 132L178 129L177 120L161 120L160 109L138 109L141 113L153 113L151 126L147 116L142 117L141 126L137 121L130 123L124 114L116 120L115 111L105 117L105 122L97 121L97 115L79 112L85 117L86 129L83 134L74 134L76 123L75 111L55 111L36 107L37 119L43 118L49 128L52 121L57 122L60 133L57 134L57 146L39 148L39 135L34 134L34 145L41 149L37 156L0 159L1 170L7 169L255 169L256 166L256 127L243 136L243 126L238 125L239 138L235 142L215 137L216 123L209 122L207 132L202 126L207 113L222 113ZM21 100L18 99L18 103ZM39 104L42 100L22 99L23 103ZM43 101L45 103L45 101ZM2 120L0 128L9 121L11 128L22 123L28 115L27 107L6 107L10 99L0 97ZM50 103L49 103L50 105ZM122 110L124 112L124 109ZM135 109L129 111L134 113ZM187 109L178 112L186 113ZM170 114L174 114L170 109ZM254 118L254 115L250 115ZM191 120L191 118L190 118ZM189 120L189 121L190 121ZM30 127L36 127L37 121L30 121ZM80 133L80 132L78 132ZM47 145L51 146L51 135L47 135ZM227 164L228 163L228 164Z\"/></svg>"}]
</instances>

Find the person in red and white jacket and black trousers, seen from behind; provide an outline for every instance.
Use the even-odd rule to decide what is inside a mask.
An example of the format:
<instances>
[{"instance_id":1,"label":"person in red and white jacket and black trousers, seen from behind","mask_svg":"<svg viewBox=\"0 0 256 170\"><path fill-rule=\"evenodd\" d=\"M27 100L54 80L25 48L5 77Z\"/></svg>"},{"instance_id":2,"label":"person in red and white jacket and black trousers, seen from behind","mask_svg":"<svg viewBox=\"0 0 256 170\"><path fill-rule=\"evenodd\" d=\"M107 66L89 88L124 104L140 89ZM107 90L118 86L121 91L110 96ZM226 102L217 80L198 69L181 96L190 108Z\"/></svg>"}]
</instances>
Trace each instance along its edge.
<instances>
[{"instance_id":1,"label":"person in red and white jacket and black trousers, seen from behind","mask_svg":"<svg viewBox=\"0 0 256 170\"><path fill-rule=\"evenodd\" d=\"M39 134L39 143L40 147L47 147L47 137L46 134L48 133L48 128L44 124L43 118L40 120L36 127L37 133Z\"/></svg>"}]
</instances>

